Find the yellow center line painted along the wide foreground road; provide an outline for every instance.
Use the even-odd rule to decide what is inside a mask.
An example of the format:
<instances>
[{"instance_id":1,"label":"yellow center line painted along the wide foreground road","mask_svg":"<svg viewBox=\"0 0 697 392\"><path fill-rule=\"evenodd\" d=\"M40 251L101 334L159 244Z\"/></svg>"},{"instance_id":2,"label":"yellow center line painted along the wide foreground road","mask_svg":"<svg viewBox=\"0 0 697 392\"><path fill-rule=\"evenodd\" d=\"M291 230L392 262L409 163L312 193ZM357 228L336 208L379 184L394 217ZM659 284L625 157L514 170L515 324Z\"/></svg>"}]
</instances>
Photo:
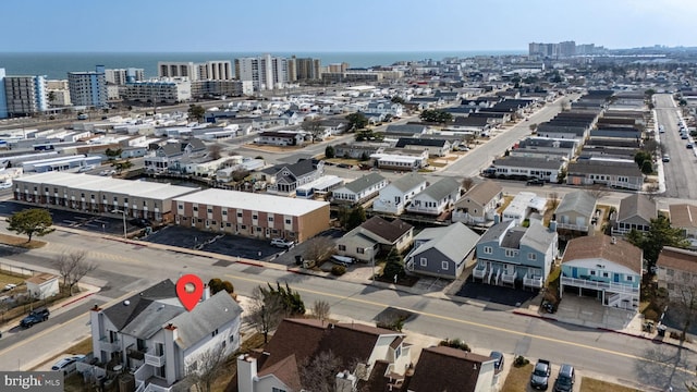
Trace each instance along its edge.
<instances>
[{"instance_id":1,"label":"yellow center line painted along the wide foreground road","mask_svg":"<svg viewBox=\"0 0 697 392\"><path fill-rule=\"evenodd\" d=\"M252 283L261 283L261 284L266 284L267 283L267 281L262 281L262 280L258 280L258 279L241 278L241 277L232 275L232 274L225 274L225 275L230 277L230 278L234 278L234 279L252 282ZM660 364L660 365L669 366L668 364L665 364L663 362L653 360L653 359L640 357L640 356L633 355L633 354L616 352L616 351L612 351L612 350L608 350L608 348L596 347L596 346L591 346L591 345L587 345L587 344L583 344L583 343L575 343L575 342L564 341L564 340L549 338L549 336L537 335L537 334L527 333L527 332L521 332L521 331L516 331L516 330L511 330L511 329L506 329L506 328L489 326L489 324L475 322L475 321L462 320L462 319L454 318L454 317L436 315L436 314L421 311L421 310L409 309L409 308L401 307L401 306L381 304L381 303L378 303L378 302L375 302L375 301L360 299L360 298L355 298L353 296L339 295L339 294L333 294L333 293L326 293L326 292L320 292L320 291L310 290L310 289L294 289L294 290L297 291L297 292L305 292L305 293L309 293L309 294L321 295L321 296L325 296L325 297L333 297L333 298L337 298L337 299L341 299L342 302L345 301L345 302L354 302L354 303L358 303L358 304L370 305L370 306L375 306L377 308L386 308L388 306L391 306L393 308L405 310L405 311L409 311L409 313L413 313L413 314L416 314L416 315L419 315L419 316L426 316L426 317L431 317L431 318L447 320L447 321L454 321L454 322L457 322L457 323L461 323L461 324L467 324L467 326L473 326L473 327L477 327L477 328L484 328L484 329L488 329L488 330L492 330L492 331L505 332L505 333L514 334L514 335L518 335L518 336L535 338L535 339L539 339L539 340L543 340L543 341L548 341L548 342L561 343L561 344L566 344L566 345L574 346L574 347L592 350L592 351L596 351L596 352L601 352L601 353L606 353L606 354L623 356L623 357L631 358L631 359L639 359L639 360L644 360L644 362L647 362L647 363ZM686 369L680 369L680 370L687 371Z\"/></svg>"}]
</instances>

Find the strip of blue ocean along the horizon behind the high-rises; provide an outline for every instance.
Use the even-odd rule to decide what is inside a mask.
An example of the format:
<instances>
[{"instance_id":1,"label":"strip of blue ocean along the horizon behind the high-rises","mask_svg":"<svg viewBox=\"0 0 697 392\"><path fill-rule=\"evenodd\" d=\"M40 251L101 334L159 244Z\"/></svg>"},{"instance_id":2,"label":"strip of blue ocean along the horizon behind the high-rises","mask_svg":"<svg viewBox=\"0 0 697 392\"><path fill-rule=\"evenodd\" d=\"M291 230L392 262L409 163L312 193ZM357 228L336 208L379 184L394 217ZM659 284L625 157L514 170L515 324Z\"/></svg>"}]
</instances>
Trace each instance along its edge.
<instances>
[{"instance_id":1,"label":"strip of blue ocean along the horizon behind the high-rises","mask_svg":"<svg viewBox=\"0 0 697 392\"><path fill-rule=\"evenodd\" d=\"M525 51L424 51L424 52L271 52L272 56L320 59L322 65L346 62L351 68L390 65L398 61L442 60L457 57L524 54ZM95 65L107 69L144 69L146 77L157 77L158 61L230 60L256 57L260 52L0 52L0 68L8 75L47 75L49 79L68 78L69 72L94 71Z\"/></svg>"}]
</instances>

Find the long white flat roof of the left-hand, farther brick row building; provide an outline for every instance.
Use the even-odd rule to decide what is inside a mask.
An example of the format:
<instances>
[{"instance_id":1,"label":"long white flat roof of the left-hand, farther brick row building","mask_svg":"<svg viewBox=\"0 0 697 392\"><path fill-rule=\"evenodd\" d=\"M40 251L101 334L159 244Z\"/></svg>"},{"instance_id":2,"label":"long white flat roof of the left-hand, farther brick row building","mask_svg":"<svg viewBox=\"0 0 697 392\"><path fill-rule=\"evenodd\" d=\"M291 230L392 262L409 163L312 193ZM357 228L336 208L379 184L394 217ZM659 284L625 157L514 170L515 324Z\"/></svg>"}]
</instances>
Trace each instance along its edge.
<instances>
[{"instance_id":1,"label":"long white flat roof of the left-hand, farther brick row building","mask_svg":"<svg viewBox=\"0 0 697 392\"><path fill-rule=\"evenodd\" d=\"M94 192L115 192L127 194L133 197L146 197L154 199L168 199L199 189L166 183L121 180L109 176L68 172L46 172L25 175L21 179L16 179L15 182L68 186Z\"/></svg>"}]
</instances>

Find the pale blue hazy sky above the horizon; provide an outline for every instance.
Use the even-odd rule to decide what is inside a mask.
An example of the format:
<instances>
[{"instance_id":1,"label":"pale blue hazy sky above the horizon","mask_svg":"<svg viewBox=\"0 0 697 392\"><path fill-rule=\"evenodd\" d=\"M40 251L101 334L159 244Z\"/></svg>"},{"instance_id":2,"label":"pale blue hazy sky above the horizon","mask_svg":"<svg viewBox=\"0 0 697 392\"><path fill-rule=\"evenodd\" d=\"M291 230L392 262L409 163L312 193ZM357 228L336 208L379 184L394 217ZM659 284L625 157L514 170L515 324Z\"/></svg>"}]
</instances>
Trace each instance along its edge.
<instances>
[{"instance_id":1,"label":"pale blue hazy sky above the horizon","mask_svg":"<svg viewBox=\"0 0 697 392\"><path fill-rule=\"evenodd\" d=\"M5 0L1 10L0 52L697 46L696 0Z\"/></svg>"}]
</instances>

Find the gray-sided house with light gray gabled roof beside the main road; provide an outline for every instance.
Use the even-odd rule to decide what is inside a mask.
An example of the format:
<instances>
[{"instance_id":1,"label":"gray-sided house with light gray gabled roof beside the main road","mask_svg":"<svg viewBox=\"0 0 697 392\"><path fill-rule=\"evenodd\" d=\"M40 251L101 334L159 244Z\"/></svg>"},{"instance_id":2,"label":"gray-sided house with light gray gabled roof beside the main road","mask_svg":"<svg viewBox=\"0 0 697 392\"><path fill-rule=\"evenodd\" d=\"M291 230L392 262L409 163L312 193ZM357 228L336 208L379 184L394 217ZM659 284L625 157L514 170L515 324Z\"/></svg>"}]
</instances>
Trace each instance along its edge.
<instances>
[{"instance_id":1,"label":"gray-sided house with light gray gabled roof beside the main road","mask_svg":"<svg viewBox=\"0 0 697 392\"><path fill-rule=\"evenodd\" d=\"M414 237L414 249L404 258L406 270L443 279L457 279L479 234L463 223L424 229Z\"/></svg>"}]
</instances>

